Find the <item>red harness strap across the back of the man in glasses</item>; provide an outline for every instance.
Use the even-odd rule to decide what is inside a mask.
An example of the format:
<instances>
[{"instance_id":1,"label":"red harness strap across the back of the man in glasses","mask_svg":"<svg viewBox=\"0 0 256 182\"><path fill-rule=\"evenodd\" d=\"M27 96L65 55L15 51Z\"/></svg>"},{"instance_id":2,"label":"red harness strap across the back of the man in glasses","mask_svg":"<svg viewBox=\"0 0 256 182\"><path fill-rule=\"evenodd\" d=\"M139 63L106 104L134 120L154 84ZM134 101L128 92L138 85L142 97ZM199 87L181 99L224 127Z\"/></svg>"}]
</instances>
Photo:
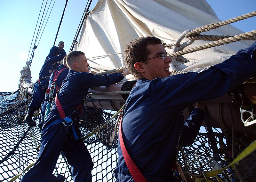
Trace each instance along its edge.
<instances>
[{"instance_id":1,"label":"red harness strap across the back of the man in glasses","mask_svg":"<svg viewBox=\"0 0 256 182\"><path fill-rule=\"evenodd\" d=\"M119 123L119 142L120 142L120 146L121 146L121 150L124 156L124 161L132 175L132 178L135 182L147 182L147 180L145 179L145 177L143 176L143 174L140 172L140 170L138 169L138 167L136 166L136 164L134 164L134 162L132 161L131 157L129 156L125 146L124 146L124 140L123 140L123 136L122 136L122 121L123 121L123 116L121 116L121 120Z\"/></svg>"}]
</instances>

